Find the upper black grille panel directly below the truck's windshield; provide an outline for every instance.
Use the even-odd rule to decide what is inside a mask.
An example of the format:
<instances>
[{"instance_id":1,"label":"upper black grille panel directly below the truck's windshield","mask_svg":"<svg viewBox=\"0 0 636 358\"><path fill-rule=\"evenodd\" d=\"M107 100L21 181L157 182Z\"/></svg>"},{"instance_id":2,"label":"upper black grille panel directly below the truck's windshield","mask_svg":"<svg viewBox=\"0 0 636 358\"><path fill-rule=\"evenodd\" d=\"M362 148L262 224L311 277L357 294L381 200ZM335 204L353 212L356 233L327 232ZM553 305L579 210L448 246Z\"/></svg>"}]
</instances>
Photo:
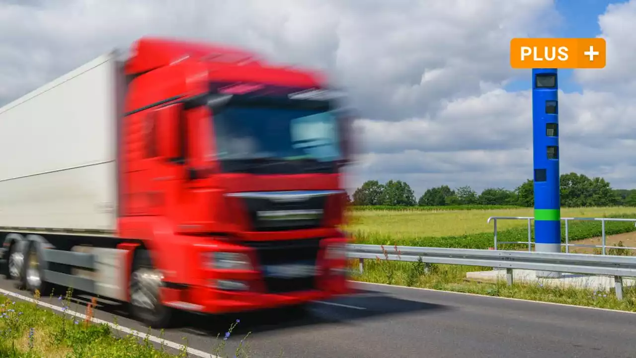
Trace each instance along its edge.
<instances>
[{"instance_id":1,"label":"upper black grille panel directly below the truck's windshield","mask_svg":"<svg viewBox=\"0 0 636 358\"><path fill-rule=\"evenodd\" d=\"M270 198L242 198L254 231L284 231L318 228L324 217L327 196L312 196L297 202Z\"/></svg>"}]
</instances>

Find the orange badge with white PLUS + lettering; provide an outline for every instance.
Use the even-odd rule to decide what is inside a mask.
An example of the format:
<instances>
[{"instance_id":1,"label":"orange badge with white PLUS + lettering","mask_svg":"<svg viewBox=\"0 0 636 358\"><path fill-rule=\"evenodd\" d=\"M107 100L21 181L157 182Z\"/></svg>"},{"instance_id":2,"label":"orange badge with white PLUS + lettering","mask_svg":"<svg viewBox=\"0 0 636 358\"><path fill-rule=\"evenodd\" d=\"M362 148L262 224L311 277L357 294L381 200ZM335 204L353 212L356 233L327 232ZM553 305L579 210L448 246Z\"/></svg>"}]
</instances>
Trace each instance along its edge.
<instances>
[{"instance_id":1,"label":"orange badge with white PLUS + lettering","mask_svg":"<svg viewBox=\"0 0 636 358\"><path fill-rule=\"evenodd\" d=\"M515 38L510 41L510 65L515 69L601 69L605 39Z\"/></svg>"}]
</instances>

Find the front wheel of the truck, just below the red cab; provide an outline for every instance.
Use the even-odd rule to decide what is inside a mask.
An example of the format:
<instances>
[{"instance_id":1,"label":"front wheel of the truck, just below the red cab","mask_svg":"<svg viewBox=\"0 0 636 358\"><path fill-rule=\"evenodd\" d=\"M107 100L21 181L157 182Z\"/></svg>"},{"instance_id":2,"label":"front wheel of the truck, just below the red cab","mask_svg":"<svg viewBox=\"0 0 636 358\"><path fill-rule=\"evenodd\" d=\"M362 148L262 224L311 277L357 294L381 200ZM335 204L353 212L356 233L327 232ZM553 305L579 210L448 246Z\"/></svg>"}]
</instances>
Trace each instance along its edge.
<instances>
[{"instance_id":1,"label":"front wheel of the truck, just below the red cab","mask_svg":"<svg viewBox=\"0 0 636 358\"><path fill-rule=\"evenodd\" d=\"M172 308L163 306L159 297L162 274L153 266L149 252L135 254L130 274L130 313L150 327L169 327L174 314Z\"/></svg>"}]
</instances>

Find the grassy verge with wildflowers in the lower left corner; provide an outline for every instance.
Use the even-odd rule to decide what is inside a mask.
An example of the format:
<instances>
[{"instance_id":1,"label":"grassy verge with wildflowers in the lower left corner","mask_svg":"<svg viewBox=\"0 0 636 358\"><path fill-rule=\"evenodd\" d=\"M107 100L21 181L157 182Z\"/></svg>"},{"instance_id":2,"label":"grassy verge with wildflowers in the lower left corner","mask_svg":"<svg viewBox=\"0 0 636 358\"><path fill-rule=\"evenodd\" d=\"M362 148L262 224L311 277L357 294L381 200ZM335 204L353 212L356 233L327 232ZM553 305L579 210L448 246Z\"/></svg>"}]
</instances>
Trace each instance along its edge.
<instances>
[{"instance_id":1,"label":"grassy verge with wildflowers in the lower left corner","mask_svg":"<svg viewBox=\"0 0 636 358\"><path fill-rule=\"evenodd\" d=\"M62 306L64 313L57 314L29 302L12 300L0 294L0 357L7 358L169 358L188 357L187 346L178 354L170 354L161 345L156 348L147 338L134 334L118 336L106 324L93 324L90 320L67 313L71 291L66 294ZM39 299L36 293L36 299ZM87 306L86 315L92 317L92 306ZM249 357L249 347L241 341L231 355L226 354L225 342L239 320L230 326L225 337L212 348L218 357ZM148 334L152 334L150 331ZM163 332L162 332L163 335ZM159 336L162 338L162 336Z\"/></svg>"}]
</instances>

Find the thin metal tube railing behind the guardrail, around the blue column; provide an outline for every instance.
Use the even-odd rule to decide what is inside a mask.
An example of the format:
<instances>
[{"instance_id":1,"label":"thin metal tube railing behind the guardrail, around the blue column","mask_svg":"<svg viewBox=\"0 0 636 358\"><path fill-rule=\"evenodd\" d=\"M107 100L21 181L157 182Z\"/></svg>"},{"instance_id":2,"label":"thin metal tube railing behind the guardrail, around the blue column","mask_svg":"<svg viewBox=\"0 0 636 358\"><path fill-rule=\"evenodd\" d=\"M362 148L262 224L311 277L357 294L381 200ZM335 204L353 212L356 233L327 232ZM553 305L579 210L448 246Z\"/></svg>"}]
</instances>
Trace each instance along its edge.
<instances>
[{"instance_id":1,"label":"thin metal tube railing behind the guardrail, around the blue column","mask_svg":"<svg viewBox=\"0 0 636 358\"><path fill-rule=\"evenodd\" d=\"M531 216L491 216L488 217L488 223L493 221L494 226L494 249L497 250L499 245L503 244L524 244L528 245L528 251L532 251L532 226L530 222L534 220L534 217ZM528 241L502 241L500 242L497 238L497 220L527 220L528 221ZM632 222L636 226L636 219L620 219L614 217L562 217L562 221L565 221L565 243L561 244L565 246L565 253L570 252L570 247L593 247L595 249L601 249L602 254L607 254L607 245L606 245L606 235L605 235L605 223L607 221L628 221ZM569 223L570 221L581 220L581 221L600 221L601 223L601 245L586 245L586 244L570 244L570 236L569 236ZM611 249L621 249L621 250L636 250L636 247L626 247L626 246L609 246Z\"/></svg>"}]
</instances>

